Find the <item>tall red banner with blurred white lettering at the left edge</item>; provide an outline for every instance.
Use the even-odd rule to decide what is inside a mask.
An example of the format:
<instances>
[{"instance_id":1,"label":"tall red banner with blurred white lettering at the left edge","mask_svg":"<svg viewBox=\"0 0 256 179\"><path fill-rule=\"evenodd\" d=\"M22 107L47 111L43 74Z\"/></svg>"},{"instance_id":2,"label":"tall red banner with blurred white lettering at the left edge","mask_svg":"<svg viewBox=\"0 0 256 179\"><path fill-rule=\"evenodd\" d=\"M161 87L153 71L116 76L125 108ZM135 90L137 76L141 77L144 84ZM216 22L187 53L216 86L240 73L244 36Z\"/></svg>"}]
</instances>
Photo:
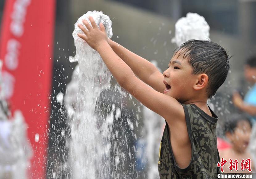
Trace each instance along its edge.
<instances>
[{"instance_id":1,"label":"tall red banner with blurred white lettering at the left edge","mask_svg":"<svg viewBox=\"0 0 256 179\"><path fill-rule=\"evenodd\" d=\"M2 78L11 111L21 110L28 125L34 150L29 178L46 176L54 26L54 0L6 0L0 38Z\"/></svg>"}]
</instances>

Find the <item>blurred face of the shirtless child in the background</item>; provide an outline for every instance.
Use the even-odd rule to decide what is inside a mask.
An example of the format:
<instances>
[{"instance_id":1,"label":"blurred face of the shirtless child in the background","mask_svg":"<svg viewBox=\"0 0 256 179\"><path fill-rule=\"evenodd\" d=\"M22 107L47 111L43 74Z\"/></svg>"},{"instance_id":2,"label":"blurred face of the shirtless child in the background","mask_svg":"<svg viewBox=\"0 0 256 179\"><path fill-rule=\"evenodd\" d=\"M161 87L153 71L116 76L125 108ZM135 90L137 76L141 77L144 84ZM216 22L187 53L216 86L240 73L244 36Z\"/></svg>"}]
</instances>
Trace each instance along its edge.
<instances>
[{"instance_id":1,"label":"blurred face of the shirtless child in the background","mask_svg":"<svg viewBox=\"0 0 256 179\"><path fill-rule=\"evenodd\" d=\"M233 147L240 152L244 152L250 141L251 126L247 120L241 120L237 123L237 127L227 135Z\"/></svg>"}]
</instances>

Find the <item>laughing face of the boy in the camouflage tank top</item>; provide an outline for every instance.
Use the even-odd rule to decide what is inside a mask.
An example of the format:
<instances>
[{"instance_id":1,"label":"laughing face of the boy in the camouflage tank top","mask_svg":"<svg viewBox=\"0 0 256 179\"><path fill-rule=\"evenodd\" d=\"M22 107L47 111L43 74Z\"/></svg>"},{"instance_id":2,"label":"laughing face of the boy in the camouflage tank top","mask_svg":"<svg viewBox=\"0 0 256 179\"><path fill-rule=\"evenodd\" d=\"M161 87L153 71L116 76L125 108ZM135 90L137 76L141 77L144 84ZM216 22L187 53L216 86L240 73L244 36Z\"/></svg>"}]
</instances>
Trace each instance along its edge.
<instances>
[{"instance_id":1,"label":"laughing face of the boy in the camouflage tank top","mask_svg":"<svg viewBox=\"0 0 256 179\"><path fill-rule=\"evenodd\" d=\"M195 75L192 74L192 67L187 59L183 59L179 52L171 58L168 69L163 72L166 90L164 94L185 102L191 99Z\"/></svg>"}]
</instances>

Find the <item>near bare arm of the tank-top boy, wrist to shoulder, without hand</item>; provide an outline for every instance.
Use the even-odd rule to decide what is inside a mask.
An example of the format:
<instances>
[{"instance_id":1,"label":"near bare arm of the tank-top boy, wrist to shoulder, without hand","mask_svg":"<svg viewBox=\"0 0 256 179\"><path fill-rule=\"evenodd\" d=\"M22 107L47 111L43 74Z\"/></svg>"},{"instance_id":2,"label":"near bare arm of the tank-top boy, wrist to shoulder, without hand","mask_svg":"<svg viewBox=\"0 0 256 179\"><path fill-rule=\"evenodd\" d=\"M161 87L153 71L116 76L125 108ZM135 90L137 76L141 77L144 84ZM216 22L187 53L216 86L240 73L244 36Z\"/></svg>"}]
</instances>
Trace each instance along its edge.
<instances>
[{"instance_id":1,"label":"near bare arm of the tank-top boy, wrist to shoulder, without hand","mask_svg":"<svg viewBox=\"0 0 256 179\"><path fill-rule=\"evenodd\" d=\"M183 119L184 110L180 103L170 96L157 92L138 79L109 44L102 44L97 51L117 82L143 105L161 115L167 122L171 122L171 118Z\"/></svg>"}]
</instances>

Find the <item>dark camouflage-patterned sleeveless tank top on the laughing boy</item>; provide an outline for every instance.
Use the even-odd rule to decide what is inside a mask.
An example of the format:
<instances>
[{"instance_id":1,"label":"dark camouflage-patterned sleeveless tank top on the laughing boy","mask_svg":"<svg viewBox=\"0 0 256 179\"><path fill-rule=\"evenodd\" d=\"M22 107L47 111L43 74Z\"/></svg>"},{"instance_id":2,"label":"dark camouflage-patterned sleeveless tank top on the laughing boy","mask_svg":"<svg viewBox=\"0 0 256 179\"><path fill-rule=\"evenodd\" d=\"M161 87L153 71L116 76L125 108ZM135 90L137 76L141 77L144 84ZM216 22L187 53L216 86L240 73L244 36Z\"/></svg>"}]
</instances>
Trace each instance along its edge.
<instances>
[{"instance_id":1,"label":"dark camouflage-patterned sleeveless tank top on the laughing boy","mask_svg":"<svg viewBox=\"0 0 256 179\"><path fill-rule=\"evenodd\" d=\"M217 173L220 173L217 167L220 160L216 135L218 117L210 107L213 117L206 114L195 104L182 106L192 147L191 161L185 169L181 169L176 164L171 148L169 127L166 123L159 149L158 171L160 179L215 179Z\"/></svg>"}]
</instances>

